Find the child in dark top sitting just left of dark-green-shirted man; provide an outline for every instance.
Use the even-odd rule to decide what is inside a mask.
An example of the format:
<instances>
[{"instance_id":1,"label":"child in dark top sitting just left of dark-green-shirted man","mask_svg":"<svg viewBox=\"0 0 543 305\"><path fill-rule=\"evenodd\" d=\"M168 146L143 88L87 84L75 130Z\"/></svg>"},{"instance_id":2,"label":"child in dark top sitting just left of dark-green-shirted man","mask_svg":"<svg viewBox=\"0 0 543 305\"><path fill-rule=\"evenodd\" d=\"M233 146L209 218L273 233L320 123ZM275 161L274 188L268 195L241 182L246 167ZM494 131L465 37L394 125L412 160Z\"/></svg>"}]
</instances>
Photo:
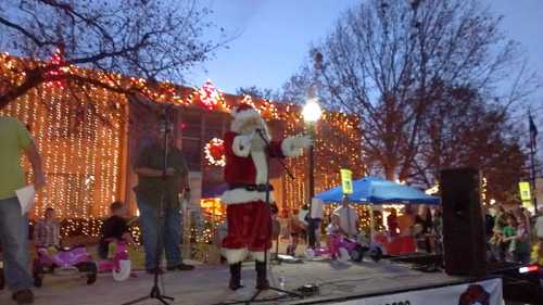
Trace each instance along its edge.
<instances>
[{"instance_id":1,"label":"child in dark top sitting just left of dark-green-shirted man","mask_svg":"<svg viewBox=\"0 0 543 305\"><path fill-rule=\"evenodd\" d=\"M125 209L123 203L118 201L112 203L110 205L110 213L111 216L102 225L100 243L98 245L98 254L102 259L108 258L111 240L135 244L128 230L127 221L124 218Z\"/></svg>"}]
</instances>

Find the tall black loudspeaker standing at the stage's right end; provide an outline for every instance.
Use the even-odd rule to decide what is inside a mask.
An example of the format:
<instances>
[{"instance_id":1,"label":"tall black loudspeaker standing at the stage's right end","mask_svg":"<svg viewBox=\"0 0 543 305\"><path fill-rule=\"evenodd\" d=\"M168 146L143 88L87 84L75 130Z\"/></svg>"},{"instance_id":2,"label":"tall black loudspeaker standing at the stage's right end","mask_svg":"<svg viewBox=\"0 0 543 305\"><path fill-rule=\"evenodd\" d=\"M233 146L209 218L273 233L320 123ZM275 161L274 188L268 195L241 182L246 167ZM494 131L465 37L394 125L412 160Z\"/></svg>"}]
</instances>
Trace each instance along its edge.
<instances>
[{"instance_id":1,"label":"tall black loudspeaker standing at the stage's right end","mask_svg":"<svg viewBox=\"0 0 543 305\"><path fill-rule=\"evenodd\" d=\"M475 168L441 170L440 192L445 272L455 276L484 276L487 241L480 171Z\"/></svg>"}]
</instances>

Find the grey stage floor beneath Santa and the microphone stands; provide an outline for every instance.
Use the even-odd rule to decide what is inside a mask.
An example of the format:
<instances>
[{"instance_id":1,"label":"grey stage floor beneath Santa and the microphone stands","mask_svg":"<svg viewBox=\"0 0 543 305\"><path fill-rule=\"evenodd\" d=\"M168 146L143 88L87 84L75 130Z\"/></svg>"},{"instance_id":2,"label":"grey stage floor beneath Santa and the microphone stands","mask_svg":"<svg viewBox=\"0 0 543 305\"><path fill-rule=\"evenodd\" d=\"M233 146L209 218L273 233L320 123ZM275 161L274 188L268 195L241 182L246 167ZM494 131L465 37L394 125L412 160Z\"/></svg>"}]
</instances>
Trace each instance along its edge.
<instances>
[{"instance_id":1,"label":"grey stage floor beneath Santa and the microphone stands","mask_svg":"<svg viewBox=\"0 0 543 305\"><path fill-rule=\"evenodd\" d=\"M212 305L242 301L254 293L254 263L245 263L242 279L245 285L237 292L228 288L228 268L222 266L197 266L192 271L167 272L163 283L167 295L174 296L171 304ZM425 285L446 284L462 281L441 272L424 274L389 260L379 263L331 264L328 260L305 262L303 264L281 264L272 266L272 283L285 277L287 289L295 289L306 283L316 283L320 295L296 302L282 298L260 304L303 304L316 298L336 298L354 294L369 294ZM147 295L152 284L152 276L142 272L138 278L124 282L115 282L109 275L101 275L93 285L87 285L85 279L77 277L61 278L48 276L43 287L35 289L36 305L115 305L123 304L139 296ZM274 298L276 292L268 291L262 297ZM11 293L0 292L0 304L15 304L10 300ZM146 301L141 305L160 304L157 301Z\"/></svg>"}]
</instances>

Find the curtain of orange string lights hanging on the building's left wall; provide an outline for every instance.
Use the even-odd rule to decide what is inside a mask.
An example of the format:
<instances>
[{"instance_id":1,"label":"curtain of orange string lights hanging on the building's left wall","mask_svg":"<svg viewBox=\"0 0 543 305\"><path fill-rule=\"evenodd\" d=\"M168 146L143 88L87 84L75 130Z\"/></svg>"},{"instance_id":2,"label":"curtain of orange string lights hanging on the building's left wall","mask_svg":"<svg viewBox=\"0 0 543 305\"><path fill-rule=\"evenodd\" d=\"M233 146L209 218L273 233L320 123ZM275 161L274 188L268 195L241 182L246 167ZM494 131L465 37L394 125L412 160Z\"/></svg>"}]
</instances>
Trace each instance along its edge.
<instances>
[{"instance_id":1,"label":"curtain of orange string lights hanging on the building's left wall","mask_svg":"<svg viewBox=\"0 0 543 305\"><path fill-rule=\"evenodd\" d=\"M0 55L2 80L18 84L20 75L13 73L18 64L18 59ZM92 86L73 88L45 82L0 110L0 115L28 124L42 154L48 183L38 192L30 217L41 217L51 206L62 219L102 218L111 202L121 198L119 143L126 137L126 98ZM23 165L31 171L28 162Z\"/></svg>"}]
</instances>

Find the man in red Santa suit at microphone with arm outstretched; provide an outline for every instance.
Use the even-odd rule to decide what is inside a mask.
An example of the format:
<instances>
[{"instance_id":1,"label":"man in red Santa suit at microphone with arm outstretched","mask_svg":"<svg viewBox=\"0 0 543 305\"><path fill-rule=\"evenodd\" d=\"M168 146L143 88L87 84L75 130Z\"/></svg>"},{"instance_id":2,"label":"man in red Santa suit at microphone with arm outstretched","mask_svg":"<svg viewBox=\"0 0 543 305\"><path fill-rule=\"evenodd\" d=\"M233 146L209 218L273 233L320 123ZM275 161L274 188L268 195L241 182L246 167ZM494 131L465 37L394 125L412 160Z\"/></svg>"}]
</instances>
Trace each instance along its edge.
<instances>
[{"instance_id":1,"label":"man in red Santa suit at microphone with arm outstretched","mask_svg":"<svg viewBox=\"0 0 543 305\"><path fill-rule=\"evenodd\" d=\"M269 203L275 202L273 188L267 185L268 157L302 155L312 140L308 137L288 137L282 141L272 141L266 123L247 103L241 103L231 115L230 131L224 139L228 190L222 202L227 205L228 233L223 240L223 255L230 265L231 290L241 288L241 262L249 254L255 259L256 289L264 290L269 288L264 255L272 247L272 218L266 191L270 192Z\"/></svg>"}]
</instances>

